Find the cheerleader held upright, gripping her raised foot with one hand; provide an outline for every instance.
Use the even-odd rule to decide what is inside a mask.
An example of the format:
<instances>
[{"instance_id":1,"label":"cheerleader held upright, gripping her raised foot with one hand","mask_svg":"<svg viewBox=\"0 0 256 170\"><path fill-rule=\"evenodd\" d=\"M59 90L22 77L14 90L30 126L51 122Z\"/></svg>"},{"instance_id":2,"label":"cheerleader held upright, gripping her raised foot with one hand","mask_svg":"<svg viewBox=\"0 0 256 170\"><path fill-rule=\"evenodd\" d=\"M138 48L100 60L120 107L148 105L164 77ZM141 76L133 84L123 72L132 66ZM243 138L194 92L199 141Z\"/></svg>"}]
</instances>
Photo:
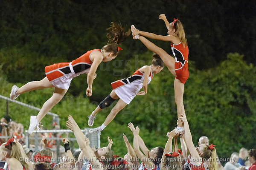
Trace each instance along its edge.
<instances>
[{"instance_id":1,"label":"cheerleader held upright, gripping her raised foot with one hand","mask_svg":"<svg viewBox=\"0 0 256 170\"><path fill-rule=\"evenodd\" d=\"M133 32L134 39L139 39L150 51L158 54L161 57L161 59L163 59L163 62L165 63L169 71L175 76L175 102L177 105L177 115L178 117L180 117L180 114L184 113L184 84L189 77L189 48L187 45L183 25L180 22L180 20L174 18L174 21L172 23L169 23L164 14L161 14L159 18L164 20L166 27L168 29L167 33L169 35L162 36L144 31L138 31L134 27L134 25L131 26L131 31ZM172 53L175 56L175 58L167 54L166 51L164 51L162 48L157 47L157 45L154 45L154 43L150 42L145 37L171 42ZM181 123L180 125L178 125L177 129L175 129L175 133L178 132L183 132L183 127L181 127Z\"/></svg>"}]
</instances>

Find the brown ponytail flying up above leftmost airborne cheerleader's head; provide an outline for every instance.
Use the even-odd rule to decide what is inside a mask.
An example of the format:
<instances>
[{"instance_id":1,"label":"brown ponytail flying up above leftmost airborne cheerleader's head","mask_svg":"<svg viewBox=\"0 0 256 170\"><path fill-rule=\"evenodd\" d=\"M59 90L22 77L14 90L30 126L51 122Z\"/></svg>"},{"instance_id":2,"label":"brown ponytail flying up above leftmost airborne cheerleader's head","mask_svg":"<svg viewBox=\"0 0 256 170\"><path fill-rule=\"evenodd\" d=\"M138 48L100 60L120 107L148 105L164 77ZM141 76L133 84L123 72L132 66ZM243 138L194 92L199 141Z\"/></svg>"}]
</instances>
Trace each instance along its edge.
<instances>
[{"instance_id":1,"label":"brown ponytail flying up above leftmost airborne cheerleader's head","mask_svg":"<svg viewBox=\"0 0 256 170\"><path fill-rule=\"evenodd\" d=\"M124 42L131 35L131 29L125 32L126 26L122 27L122 24L120 22L119 24L112 22L110 26L111 27L107 28L107 31L109 31L109 33L107 34L108 43L110 44L111 43L120 44L121 42Z\"/></svg>"}]
</instances>

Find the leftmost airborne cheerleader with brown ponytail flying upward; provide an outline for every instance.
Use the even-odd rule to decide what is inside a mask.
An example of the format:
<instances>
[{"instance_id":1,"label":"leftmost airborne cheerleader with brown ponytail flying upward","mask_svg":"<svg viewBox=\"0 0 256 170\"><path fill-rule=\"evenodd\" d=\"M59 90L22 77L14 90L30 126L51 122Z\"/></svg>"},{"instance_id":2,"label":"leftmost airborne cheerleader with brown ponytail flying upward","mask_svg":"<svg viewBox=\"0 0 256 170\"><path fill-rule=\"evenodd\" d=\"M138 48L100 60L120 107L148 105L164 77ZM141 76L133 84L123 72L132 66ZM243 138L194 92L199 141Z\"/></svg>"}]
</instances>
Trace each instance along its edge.
<instances>
[{"instance_id":1,"label":"leftmost airborne cheerleader with brown ponytail flying upward","mask_svg":"<svg viewBox=\"0 0 256 170\"><path fill-rule=\"evenodd\" d=\"M87 53L72 62L61 62L49 65L45 67L46 77L41 81L28 82L21 88L18 88L16 85L12 87L10 94L11 99L16 99L20 94L28 91L54 87L52 97L44 103L38 115L30 117L29 134L33 133L35 127L40 130L38 122L44 118L53 106L61 101L63 96L67 93L73 77L86 73L88 84L86 94L87 96L92 95L93 79L96 78L96 70L99 64L116 58L120 50L122 50L118 44L125 41L131 34L130 30L125 32L125 27L115 23L111 23L111 27L107 30L110 32L107 34L110 44L105 45L102 49L87 51Z\"/></svg>"}]
</instances>

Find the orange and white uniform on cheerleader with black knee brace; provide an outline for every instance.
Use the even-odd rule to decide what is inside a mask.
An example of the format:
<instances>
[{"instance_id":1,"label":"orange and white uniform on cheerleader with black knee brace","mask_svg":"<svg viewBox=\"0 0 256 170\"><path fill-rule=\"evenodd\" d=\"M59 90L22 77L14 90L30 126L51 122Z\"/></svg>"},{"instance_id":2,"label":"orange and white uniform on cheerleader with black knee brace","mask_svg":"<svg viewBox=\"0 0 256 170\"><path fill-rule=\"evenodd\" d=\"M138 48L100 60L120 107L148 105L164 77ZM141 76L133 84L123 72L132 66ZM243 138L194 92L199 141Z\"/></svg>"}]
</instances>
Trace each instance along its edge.
<instances>
[{"instance_id":1,"label":"orange and white uniform on cheerleader with black knee brace","mask_svg":"<svg viewBox=\"0 0 256 170\"><path fill-rule=\"evenodd\" d=\"M140 89L143 88L144 73L140 71L140 69L135 71L134 74L127 79L120 79L111 83L116 95L126 104L129 104ZM151 82L153 77L154 73L151 70L148 77L148 84Z\"/></svg>"}]
</instances>

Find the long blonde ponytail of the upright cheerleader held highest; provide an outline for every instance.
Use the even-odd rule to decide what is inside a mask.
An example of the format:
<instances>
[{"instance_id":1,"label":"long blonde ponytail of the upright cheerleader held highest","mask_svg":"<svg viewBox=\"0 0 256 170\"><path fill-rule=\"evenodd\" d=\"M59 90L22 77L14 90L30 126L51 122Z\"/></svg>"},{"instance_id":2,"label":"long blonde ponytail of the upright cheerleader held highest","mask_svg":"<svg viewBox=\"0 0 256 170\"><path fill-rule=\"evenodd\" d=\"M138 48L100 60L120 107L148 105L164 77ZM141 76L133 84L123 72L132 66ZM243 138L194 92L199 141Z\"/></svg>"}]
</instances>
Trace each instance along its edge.
<instances>
[{"instance_id":1,"label":"long blonde ponytail of the upright cheerleader held highest","mask_svg":"<svg viewBox=\"0 0 256 170\"><path fill-rule=\"evenodd\" d=\"M173 26L174 24L174 26ZM175 29L174 36L178 37L180 39L180 42L182 43L183 47L185 48L188 46L188 42L186 40L185 31L183 29L183 25L180 22L180 20L177 20L175 23L170 23L169 27L172 28L172 30Z\"/></svg>"}]
</instances>

